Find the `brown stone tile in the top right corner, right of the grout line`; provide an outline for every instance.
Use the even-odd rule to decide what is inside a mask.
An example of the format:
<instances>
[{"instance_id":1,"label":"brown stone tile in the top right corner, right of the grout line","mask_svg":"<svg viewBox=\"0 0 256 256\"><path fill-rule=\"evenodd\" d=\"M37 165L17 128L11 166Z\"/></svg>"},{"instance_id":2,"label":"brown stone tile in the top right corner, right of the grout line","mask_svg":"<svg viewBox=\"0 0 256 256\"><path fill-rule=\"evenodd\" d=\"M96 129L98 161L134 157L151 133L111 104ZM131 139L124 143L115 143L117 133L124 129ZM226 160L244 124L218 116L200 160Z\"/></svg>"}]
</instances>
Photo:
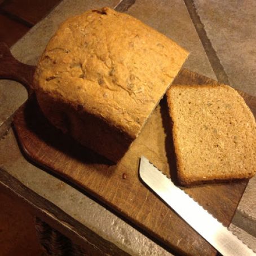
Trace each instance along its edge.
<instances>
[{"instance_id":1,"label":"brown stone tile in the top right corner, right of the grout line","mask_svg":"<svg viewBox=\"0 0 256 256\"><path fill-rule=\"evenodd\" d=\"M256 95L256 2L194 3L231 86Z\"/></svg>"}]
</instances>

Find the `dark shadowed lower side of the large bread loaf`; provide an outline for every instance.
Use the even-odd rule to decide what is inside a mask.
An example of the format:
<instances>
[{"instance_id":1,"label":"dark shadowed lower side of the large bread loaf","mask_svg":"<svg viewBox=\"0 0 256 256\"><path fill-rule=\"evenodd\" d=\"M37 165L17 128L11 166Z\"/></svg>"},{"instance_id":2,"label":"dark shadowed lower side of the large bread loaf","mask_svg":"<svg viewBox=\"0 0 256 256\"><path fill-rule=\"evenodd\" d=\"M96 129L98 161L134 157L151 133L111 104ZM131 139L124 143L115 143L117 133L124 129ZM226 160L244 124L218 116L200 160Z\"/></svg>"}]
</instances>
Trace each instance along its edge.
<instances>
[{"instance_id":1,"label":"dark shadowed lower side of the large bread loaf","mask_svg":"<svg viewBox=\"0 0 256 256\"><path fill-rule=\"evenodd\" d=\"M118 162L125 155L134 140L81 107L75 109L40 92L37 92L37 101L52 125L113 162Z\"/></svg>"}]
</instances>

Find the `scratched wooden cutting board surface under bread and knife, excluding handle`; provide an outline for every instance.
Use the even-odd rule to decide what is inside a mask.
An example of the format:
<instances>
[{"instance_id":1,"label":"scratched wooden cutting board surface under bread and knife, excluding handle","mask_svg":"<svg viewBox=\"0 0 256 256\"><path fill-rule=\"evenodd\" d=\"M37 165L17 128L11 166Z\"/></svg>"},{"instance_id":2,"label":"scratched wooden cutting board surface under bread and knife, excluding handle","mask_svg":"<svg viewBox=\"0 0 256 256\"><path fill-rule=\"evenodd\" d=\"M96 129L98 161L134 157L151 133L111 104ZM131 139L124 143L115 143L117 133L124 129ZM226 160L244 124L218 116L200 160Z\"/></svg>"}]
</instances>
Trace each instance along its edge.
<instances>
[{"instance_id":1,"label":"scratched wooden cutting board surface under bread and knife, excluding handle","mask_svg":"<svg viewBox=\"0 0 256 256\"><path fill-rule=\"evenodd\" d=\"M192 85L217 82L183 69L174 83ZM255 114L255 98L244 93L241 95ZM32 97L14 117L17 138L30 160L85 189L179 253L215 255L215 249L139 179L139 158L144 155L175 182L176 168L169 124L164 98L126 155L117 165L112 165L52 127ZM228 226L247 182L207 184L185 190Z\"/></svg>"}]
</instances>

